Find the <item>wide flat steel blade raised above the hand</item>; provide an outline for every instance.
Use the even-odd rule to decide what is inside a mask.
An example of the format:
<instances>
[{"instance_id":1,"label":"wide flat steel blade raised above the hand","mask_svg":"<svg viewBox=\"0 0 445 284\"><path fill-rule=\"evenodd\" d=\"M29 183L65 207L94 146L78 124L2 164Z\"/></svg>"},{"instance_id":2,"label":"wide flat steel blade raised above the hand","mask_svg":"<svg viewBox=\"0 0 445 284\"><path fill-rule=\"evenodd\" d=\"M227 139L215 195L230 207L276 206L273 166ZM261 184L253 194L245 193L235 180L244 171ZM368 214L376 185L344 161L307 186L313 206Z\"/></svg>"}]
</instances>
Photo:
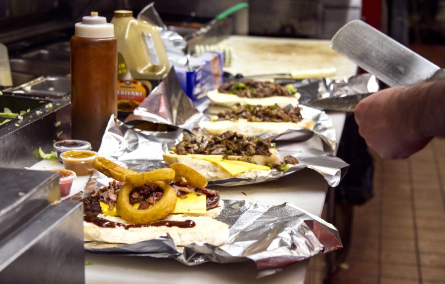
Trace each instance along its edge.
<instances>
[{"instance_id":1,"label":"wide flat steel blade raised above the hand","mask_svg":"<svg viewBox=\"0 0 445 284\"><path fill-rule=\"evenodd\" d=\"M444 69L360 20L343 26L331 47L391 87L445 77Z\"/></svg>"}]
</instances>

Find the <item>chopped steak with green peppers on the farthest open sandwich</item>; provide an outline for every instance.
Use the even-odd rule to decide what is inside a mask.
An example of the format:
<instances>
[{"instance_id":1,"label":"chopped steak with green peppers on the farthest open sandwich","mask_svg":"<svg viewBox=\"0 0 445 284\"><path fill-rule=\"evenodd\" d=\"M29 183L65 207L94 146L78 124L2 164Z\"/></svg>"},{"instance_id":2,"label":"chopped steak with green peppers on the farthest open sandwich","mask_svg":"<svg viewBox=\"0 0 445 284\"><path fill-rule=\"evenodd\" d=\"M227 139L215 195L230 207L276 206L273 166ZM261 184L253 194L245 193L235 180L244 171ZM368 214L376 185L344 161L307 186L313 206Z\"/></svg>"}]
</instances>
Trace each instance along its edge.
<instances>
[{"instance_id":1,"label":"chopped steak with green peppers on the farthest open sandwich","mask_svg":"<svg viewBox=\"0 0 445 284\"><path fill-rule=\"evenodd\" d=\"M218 92L240 97L269 97L276 95L293 96L297 90L292 85L283 87L271 82L243 80L242 82L224 83L218 88Z\"/></svg>"}]
</instances>

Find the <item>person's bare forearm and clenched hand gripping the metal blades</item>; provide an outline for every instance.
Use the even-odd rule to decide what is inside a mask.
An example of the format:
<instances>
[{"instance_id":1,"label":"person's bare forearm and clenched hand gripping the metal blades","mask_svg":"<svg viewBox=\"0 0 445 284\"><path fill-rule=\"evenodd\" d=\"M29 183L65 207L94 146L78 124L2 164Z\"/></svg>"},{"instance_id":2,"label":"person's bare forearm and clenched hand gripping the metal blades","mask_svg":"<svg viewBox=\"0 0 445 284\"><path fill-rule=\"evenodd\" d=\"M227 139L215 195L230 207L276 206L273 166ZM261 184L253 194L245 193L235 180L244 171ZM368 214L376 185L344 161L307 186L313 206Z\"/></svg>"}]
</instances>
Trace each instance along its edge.
<instances>
[{"instance_id":1,"label":"person's bare forearm and clenched hand gripping the metal blades","mask_svg":"<svg viewBox=\"0 0 445 284\"><path fill-rule=\"evenodd\" d=\"M389 88L360 101L358 132L383 158L406 158L445 137L445 80Z\"/></svg>"}]
</instances>

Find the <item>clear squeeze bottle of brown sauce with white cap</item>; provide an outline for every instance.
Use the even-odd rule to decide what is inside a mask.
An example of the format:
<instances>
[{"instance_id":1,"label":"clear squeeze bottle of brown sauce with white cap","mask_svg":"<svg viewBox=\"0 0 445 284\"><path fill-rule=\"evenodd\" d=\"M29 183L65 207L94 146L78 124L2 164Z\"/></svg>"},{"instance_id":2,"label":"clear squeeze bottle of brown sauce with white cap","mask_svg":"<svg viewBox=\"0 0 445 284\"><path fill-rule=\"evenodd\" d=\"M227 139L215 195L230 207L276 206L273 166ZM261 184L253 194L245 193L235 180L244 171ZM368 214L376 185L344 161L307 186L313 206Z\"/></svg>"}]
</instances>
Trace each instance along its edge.
<instances>
[{"instance_id":1,"label":"clear squeeze bottle of brown sauce with white cap","mask_svg":"<svg viewBox=\"0 0 445 284\"><path fill-rule=\"evenodd\" d=\"M71 137L97 151L111 115L117 116L117 40L97 12L76 23L71 38Z\"/></svg>"}]
</instances>

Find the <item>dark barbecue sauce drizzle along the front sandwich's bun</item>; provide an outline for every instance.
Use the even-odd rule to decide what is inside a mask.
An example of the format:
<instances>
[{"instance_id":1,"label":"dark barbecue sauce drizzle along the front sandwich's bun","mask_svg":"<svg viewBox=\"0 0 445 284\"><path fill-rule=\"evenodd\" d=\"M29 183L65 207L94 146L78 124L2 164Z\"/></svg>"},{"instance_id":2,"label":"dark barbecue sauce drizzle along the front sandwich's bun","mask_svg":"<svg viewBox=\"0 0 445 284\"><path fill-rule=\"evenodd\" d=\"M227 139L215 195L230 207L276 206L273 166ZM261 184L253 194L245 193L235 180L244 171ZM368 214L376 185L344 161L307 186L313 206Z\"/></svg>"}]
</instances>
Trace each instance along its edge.
<instances>
[{"instance_id":1,"label":"dark barbecue sauce drizzle along the front sandwich's bun","mask_svg":"<svg viewBox=\"0 0 445 284\"><path fill-rule=\"evenodd\" d=\"M179 227L179 228L193 228L196 226L196 223L193 220L185 220L185 221L173 221L173 220L164 220L164 221L158 221L150 224L130 224L125 225L118 222L109 221L103 218L99 218L96 216L84 216L84 220L89 223L93 223L96 226L102 227L102 228L116 228L116 227L122 227L125 230L128 230L130 228L144 228L144 227Z\"/></svg>"}]
</instances>

